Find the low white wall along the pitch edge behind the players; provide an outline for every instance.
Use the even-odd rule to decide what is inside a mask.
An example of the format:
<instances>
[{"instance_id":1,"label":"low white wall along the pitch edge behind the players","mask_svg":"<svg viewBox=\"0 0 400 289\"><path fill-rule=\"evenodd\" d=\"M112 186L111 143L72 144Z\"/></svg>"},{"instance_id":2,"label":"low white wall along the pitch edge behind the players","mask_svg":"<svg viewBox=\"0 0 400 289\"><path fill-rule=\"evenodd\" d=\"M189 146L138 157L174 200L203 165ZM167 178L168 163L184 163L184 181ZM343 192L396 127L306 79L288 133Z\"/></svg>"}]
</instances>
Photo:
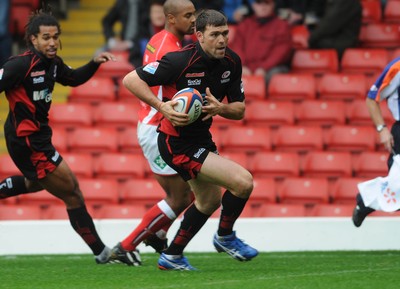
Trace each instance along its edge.
<instances>
[{"instance_id":1,"label":"low white wall along the pitch edge behind the players","mask_svg":"<svg viewBox=\"0 0 400 289\"><path fill-rule=\"evenodd\" d=\"M108 246L132 231L140 220L95 220ZM210 219L187 247L188 252L213 252L218 219ZM172 238L179 226L170 229ZM240 238L262 252L399 250L400 217L370 217L355 228L349 218L243 218L235 225ZM90 253L69 221L1 221L0 255ZM141 252L153 252L140 245Z\"/></svg>"}]
</instances>

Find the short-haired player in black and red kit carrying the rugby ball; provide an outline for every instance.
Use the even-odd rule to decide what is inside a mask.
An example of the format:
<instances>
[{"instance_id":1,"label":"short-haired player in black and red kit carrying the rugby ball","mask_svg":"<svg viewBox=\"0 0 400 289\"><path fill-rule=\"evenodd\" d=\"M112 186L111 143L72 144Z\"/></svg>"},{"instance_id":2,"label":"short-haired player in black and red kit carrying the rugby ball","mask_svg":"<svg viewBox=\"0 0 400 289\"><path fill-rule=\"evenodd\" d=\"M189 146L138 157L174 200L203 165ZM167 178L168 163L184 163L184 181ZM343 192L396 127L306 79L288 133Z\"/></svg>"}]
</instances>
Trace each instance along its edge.
<instances>
[{"instance_id":1,"label":"short-haired player in black and red kit carrying the rugby ball","mask_svg":"<svg viewBox=\"0 0 400 289\"><path fill-rule=\"evenodd\" d=\"M214 246L240 261L257 256L258 251L236 237L233 225L240 216L253 189L253 178L239 164L220 156L212 141L212 117L244 117L242 66L239 56L227 47L226 17L215 10L197 15L198 42L161 60L129 73L124 85L138 98L164 115L158 146L164 161L189 183L196 200L184 214L177 235L158 261L163 270L195 270L183 256L183 250L210 215L222 204ZM150 87L163 85L164 102ZM188 115L173 110L172 96L193 87L204 95L203 115L188 125ZM227 97L228 103L222 100ZM224 194L221 188L226 189Z\"/></svg>"}]
</instances>

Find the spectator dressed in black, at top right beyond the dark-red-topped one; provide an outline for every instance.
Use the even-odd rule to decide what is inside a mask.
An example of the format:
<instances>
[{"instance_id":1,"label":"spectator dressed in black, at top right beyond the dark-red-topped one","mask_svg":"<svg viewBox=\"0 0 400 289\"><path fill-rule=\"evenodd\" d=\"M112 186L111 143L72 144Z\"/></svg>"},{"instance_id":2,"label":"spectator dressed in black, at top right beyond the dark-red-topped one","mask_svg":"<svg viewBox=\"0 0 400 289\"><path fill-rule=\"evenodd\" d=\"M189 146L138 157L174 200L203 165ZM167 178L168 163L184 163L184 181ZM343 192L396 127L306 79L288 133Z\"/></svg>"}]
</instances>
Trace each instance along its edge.
<instances>
[{"instance_id":1,"label":"spectator dressed in black, at top right beyond the dark-red-topped one","mask_svg":"<svg viewBox=\"0 0 400 289\"><path fill-rule=\"evenodd\" d=\"M310 48L334 48L342 57L346 48L358 45L362 6L359 0L326 0L322 17L310 31Z\"/></svg>"}]
</instances>

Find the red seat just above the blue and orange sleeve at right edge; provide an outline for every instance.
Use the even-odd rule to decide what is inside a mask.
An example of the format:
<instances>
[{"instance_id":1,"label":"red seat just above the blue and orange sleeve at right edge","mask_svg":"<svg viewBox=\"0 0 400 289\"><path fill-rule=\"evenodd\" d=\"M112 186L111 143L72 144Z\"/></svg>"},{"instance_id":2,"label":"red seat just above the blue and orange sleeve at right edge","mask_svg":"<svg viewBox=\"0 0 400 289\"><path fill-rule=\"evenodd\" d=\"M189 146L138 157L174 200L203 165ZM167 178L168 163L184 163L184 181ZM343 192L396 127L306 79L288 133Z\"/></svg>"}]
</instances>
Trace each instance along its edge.
<instances>
[{"instance_id":1,"label":"red seat just above the blue and orange sleeve at right edge","mask_svg":"<svg viewBox=\"0 0 400 289\"><path fill-rule=\"evenodd\" d=\"M379 48L347 48L341 60L343 73L380 73L389 61L389 52Z\"/></svg>"}]
</instances>

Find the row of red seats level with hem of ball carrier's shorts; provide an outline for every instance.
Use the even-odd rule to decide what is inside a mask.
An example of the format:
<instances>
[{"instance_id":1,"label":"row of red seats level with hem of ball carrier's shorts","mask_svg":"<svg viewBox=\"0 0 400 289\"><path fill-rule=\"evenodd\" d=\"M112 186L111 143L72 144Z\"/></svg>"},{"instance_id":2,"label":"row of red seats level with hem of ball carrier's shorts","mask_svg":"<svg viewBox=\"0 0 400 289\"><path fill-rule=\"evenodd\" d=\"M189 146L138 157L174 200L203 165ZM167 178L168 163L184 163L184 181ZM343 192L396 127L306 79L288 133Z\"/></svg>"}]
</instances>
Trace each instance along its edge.
<instances>
[{"instance_id":1,"label":"row of red seats level with hem of ball carrier's shorts","mask_svg":"<svg viewBox=\"0 0 400 289\"><path fill-rule=\"evenodd\" d=\"M224 153L247 167L255 177L284 179L287 177L340 177L375 178L387 175L386 152L364 152L352 155L349 152L310 151L305 155L296 152L261 151L255 155L246 153ZM64 153L63 157L78 177L115 179L145 178L151 175L141 153ZM18 174L9 156L0 157L1 179Z\"/></svg>"}]
</instances>

